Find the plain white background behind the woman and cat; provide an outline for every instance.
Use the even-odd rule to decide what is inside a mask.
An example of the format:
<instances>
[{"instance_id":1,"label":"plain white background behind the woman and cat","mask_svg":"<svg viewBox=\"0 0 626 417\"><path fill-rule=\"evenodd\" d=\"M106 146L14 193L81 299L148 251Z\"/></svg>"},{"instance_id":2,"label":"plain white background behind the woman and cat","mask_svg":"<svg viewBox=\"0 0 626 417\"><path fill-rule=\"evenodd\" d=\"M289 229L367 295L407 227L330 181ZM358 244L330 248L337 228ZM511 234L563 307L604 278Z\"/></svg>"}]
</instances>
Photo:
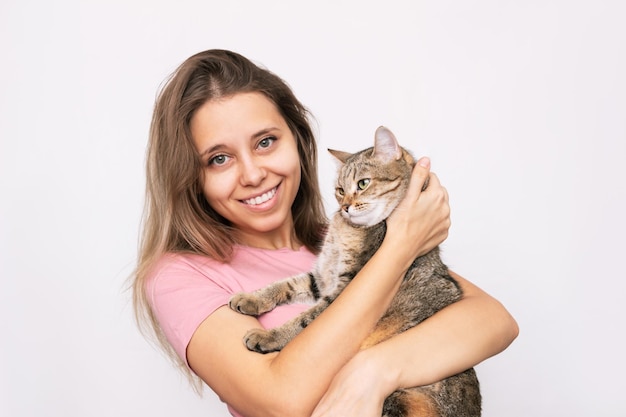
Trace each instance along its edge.
<instances>
[{"instance_id":1,"label":"plain white background behind the woman and cat","mask_svg":"<svg viewBox=\"0 0 626 417\"><path fill-rule=\"evenodd\" d=\"M521 328L477 368L485 417L626 415L625 20L620 0L4 0L0 415L227 415L124 290L156 92L208 48L315 114L329 210L325 148L384 124L432 158L445 260Z\"/></svg>"}]
</instances>

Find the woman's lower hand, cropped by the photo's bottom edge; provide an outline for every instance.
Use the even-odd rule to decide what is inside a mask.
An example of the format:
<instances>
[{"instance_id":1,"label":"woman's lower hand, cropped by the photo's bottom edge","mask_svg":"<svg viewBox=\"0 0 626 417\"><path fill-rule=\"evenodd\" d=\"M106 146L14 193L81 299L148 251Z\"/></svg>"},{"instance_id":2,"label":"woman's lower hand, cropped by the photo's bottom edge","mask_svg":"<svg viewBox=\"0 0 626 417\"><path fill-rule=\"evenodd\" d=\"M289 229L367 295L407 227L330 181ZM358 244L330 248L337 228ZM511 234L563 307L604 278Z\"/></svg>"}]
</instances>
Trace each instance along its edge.
<instances>
[{"instance_id":1,"label":"woman's lower hand, cropped by the photo's bottom edge","mask_svg":"<svg viewBox=\"0 0 626 417\"><path fill-rule=\"evenodd\" d=\"M387 373L359 352L337 373L311 417L380 417L393 391Z\"/></svg>"}]
</instances>

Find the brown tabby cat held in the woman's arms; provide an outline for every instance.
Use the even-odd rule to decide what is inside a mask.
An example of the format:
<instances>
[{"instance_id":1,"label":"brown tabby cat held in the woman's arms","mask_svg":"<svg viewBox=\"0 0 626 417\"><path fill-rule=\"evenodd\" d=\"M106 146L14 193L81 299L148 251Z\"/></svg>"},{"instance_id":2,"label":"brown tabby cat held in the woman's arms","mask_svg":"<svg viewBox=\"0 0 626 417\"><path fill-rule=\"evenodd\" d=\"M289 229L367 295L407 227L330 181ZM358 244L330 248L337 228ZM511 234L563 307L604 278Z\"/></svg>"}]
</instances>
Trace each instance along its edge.
<instances>
[{"instance_id":1,"label":"brown tabby cat held in the woman's arms","mask_svg":"<svg viewBox=\"0 0 626 417\"><path fill-rule=\"evenodd\" d=\"M332 218L314 269L252 293L236 294L230 300L232 309L251 315L279 304L316 304L280 327L249 331L244 342L250 350L282 349L333 302L376 252L385 236L385 219L406 193L415 162L387 128L378 128L372 148L355 154L330 152L342 164L336 188L340 209ZM415 326L461 296L439 249L433 249L413 261L389 309L361 348ZM473 369L432 385L398 390L385 400L383 408L386 417L469 417L480 413L481 395Z\"/></svg>"}]
</instances>

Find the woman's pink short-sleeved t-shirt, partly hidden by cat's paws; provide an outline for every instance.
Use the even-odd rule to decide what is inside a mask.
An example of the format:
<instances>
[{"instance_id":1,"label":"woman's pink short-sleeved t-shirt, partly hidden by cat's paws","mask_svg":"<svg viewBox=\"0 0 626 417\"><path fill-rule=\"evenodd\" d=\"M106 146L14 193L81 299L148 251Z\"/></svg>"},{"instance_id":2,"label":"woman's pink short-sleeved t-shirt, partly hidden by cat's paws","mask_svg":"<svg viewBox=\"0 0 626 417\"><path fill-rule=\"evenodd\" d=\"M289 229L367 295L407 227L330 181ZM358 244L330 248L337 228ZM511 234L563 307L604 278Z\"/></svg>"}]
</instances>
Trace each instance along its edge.
<instances>
[{"instance_id":1,"label":"woman's pink short-sleeved t-shirt, partly hidden by cat's paws","mask_svg":"<svg viewBox=\"0 0 626 417\"><path fill-rule=\"evenodd\" d=\"M198 326L237 292L253 291L276 280L310 271L316 256L304 246L258 249L235 246L232 261L200 255L168 254L147 281L148 301L167 340L187 362L186 350ZM279 326L309 308L278 306L259 317L265 328Z\"/></svg>"}]
</instances>

